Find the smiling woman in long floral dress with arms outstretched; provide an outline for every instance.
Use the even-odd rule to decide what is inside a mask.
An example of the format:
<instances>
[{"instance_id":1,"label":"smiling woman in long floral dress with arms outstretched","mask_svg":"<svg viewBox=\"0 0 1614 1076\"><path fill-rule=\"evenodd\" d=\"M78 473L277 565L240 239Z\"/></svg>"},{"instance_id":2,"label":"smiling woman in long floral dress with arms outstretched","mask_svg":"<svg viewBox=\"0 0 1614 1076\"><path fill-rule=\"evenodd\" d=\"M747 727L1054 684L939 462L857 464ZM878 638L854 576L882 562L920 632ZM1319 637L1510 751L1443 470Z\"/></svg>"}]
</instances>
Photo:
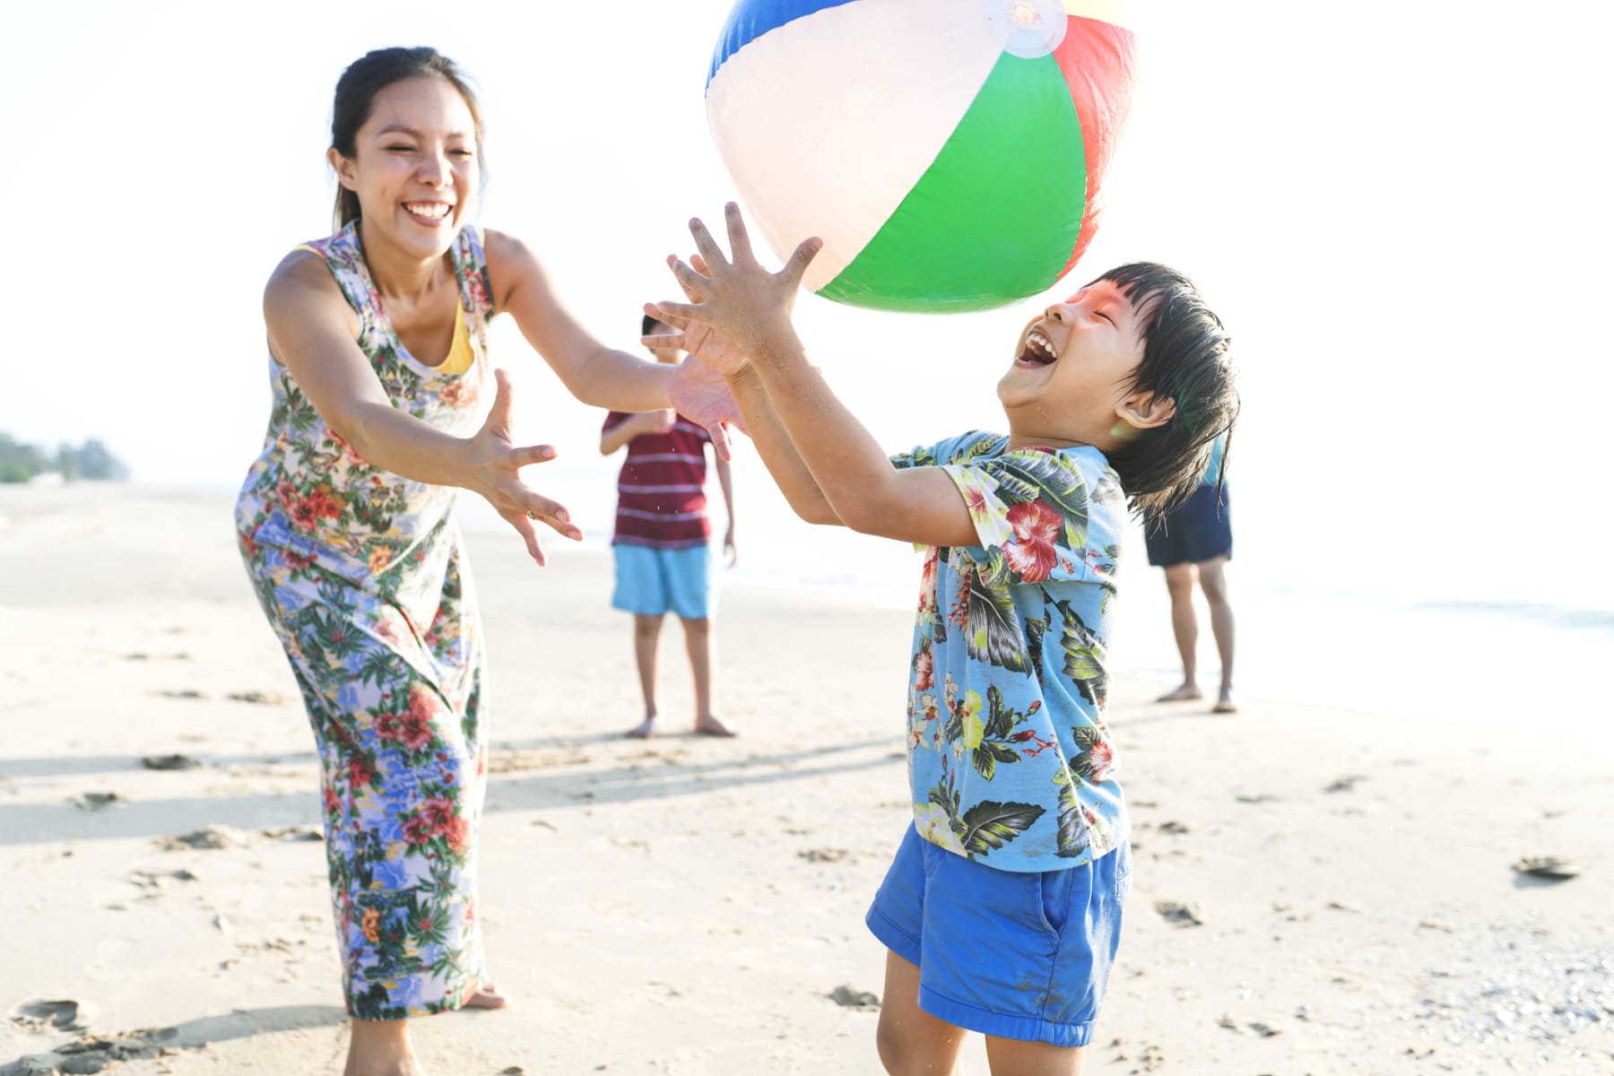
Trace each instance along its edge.
<instances>
[{"instance_id":1,"label":"smiling woman in long floral dress with arms outstretched","mask_svg":"<svg viewBox=\"0 0 1614 1076\"><path fill-rule=\"evenodd\" d=\"M579 400L649 411L676 392L723 440L720 394L596 342L526 247L471 224L481 144L437 52L353 63L331 124L341 231L292 252L263 297L274 405L236 526L320 749L349 1076L420 1073L413 1016L504 1005L478 928L484 658L452 510L481 494L539 565L537 523L581 534L521 482L554 450L510 442L487 321L508 311Z\"/></svg>"}]
</instances>

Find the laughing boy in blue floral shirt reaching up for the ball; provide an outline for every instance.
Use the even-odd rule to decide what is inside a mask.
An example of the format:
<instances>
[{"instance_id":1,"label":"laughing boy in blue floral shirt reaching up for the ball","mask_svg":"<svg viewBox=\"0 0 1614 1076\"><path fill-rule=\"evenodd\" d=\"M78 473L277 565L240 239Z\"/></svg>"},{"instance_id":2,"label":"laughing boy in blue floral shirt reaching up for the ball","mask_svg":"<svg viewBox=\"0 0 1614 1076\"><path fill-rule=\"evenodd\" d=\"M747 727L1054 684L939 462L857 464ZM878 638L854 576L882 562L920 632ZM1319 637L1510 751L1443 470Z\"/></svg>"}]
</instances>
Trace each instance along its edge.
<instances>
[{"instance_id":1,"label":"laughing boy in blue floral shirt reaching up for the ball","mask_svg":"<svg viewBox=\"0 0 1614 1076\"><path fill-rule=\"evenodd\" d=\"M721 376L810 523L930 547L909 671L909 828L867 923L886 949L880 1058L951 1073L964 1031L997 1076L1070 1076L1130 889L1127 807L1104 728L1109 607L1127 502L1186 497L1233 426L1228 337L1193 284L1114 269L1047 307L997 382L1009 436L888 458L807 361L791 305L817 240L778 274L736 206L731 261L671 260L689 303L649 307Z\"/></svg>"}]
</instances>

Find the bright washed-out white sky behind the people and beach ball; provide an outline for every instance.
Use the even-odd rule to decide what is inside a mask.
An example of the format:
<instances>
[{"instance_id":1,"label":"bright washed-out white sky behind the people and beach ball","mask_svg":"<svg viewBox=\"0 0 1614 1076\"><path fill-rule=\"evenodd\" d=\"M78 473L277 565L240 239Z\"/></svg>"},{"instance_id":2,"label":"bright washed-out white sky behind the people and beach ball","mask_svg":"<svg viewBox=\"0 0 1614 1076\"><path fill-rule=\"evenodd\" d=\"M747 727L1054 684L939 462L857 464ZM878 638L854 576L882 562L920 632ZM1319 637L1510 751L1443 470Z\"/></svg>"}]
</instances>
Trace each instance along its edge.
<instances>
[{"instance_id":1,"label":"bright washed-out white sky behind the people and beach ball","mask_svg":"<svg viewBox=\"0 0 1614 1076\"><path fill-rule=\"evenodd\" d=\"M1588 537L1611 515L1609 16L1445 0L1135 8L1141 79L1107 216L1049 297L1138 258L1199 282L1241 368L1230 468L1261 521L1241 536L1251 560L1273 579L1338 574L1340 590L1406 581L1614 608ZM734 194L702 102L726 10L10 13L23 47L0 100L19 244L0 269L0 431L98 437L139 481L239 484L268 415L261 289L291 247L329 232L331 92L383 45L431 44L470 71L487 127L481 221L526 240L600 339L634 348L639 305L673 294L662 258L688 253L684 223ZM870 108L867 123L902 123ZM926 318L804 295L797 323L852 410L905 448L1001 426L993 386L1033 303ZM608 497L599 411L504 321L492 347L521 389L518 434L562 453L531 484ZM755 461L741 471L767 498Z\"/></svg>"}]
</instances>

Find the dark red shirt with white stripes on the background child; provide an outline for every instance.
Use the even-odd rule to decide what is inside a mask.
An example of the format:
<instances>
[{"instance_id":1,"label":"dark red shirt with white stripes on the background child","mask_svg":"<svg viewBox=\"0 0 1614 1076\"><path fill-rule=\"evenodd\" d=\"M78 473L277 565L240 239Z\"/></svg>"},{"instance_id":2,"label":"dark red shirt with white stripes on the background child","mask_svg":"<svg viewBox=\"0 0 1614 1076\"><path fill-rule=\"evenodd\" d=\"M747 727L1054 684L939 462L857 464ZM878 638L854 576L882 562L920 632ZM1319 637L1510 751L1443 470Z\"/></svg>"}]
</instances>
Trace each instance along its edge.
<instances>
[{"instance_id":1,"label":"dark red shirt with white stripes on the background child","mask_svg":"<svg viewBox=\"0 0 1614 1076\"><path fill-rule=\"evenodd\" d=\"M600 432L631 415L612 411ZM705 447L712 436L683 415L665 434L639 434L617 479L617 534L612 545L691 548L705 545L712 523L705 513Z\"/></svg>"}]
</instances>

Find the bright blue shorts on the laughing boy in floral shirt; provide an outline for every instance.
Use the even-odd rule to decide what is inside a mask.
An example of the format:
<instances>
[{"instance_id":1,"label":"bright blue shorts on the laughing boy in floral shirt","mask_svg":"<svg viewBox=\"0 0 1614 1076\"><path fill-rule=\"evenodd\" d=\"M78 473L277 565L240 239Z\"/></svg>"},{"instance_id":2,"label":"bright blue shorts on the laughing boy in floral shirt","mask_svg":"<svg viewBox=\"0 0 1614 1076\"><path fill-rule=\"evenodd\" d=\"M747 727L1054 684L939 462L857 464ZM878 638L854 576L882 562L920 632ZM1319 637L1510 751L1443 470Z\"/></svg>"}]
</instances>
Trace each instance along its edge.
<instances>
[{"instance_id":1,"label":"bright blue shorts on the laughing boy in floral shirt","mask_svg":"<svg viewBox=\"0 0 1614 1076\"><path fill-rule=\"evenodd\" d=\"M918 965L918 1007L1025 1042L1086 1045L1104 1000L1131 845L1062 871L999 871L909 826L865 923Z\"/></svg>"}]
</instances>

